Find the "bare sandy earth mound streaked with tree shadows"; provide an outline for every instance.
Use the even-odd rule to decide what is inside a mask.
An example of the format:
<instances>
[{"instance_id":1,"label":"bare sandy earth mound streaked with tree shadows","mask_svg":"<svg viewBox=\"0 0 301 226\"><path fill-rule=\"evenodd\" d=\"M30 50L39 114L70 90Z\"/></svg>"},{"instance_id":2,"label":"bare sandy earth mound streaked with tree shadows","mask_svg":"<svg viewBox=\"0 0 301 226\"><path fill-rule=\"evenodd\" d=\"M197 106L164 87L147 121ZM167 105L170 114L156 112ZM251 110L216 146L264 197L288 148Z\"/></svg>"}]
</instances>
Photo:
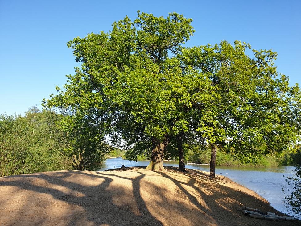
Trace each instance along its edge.
<instances>
[{"instance_id":1,"label":"bare sandy earth mound streaked with tree shadows","mask_svg":"<svg viewBox=\"0 0 301 226\"><path fill-rule=\"evenodd\" d=\"M0 225L293 225L244 216L275 212L255 192L175 167L54 171L0 178Z\"/></svg>"}]
</instances>

